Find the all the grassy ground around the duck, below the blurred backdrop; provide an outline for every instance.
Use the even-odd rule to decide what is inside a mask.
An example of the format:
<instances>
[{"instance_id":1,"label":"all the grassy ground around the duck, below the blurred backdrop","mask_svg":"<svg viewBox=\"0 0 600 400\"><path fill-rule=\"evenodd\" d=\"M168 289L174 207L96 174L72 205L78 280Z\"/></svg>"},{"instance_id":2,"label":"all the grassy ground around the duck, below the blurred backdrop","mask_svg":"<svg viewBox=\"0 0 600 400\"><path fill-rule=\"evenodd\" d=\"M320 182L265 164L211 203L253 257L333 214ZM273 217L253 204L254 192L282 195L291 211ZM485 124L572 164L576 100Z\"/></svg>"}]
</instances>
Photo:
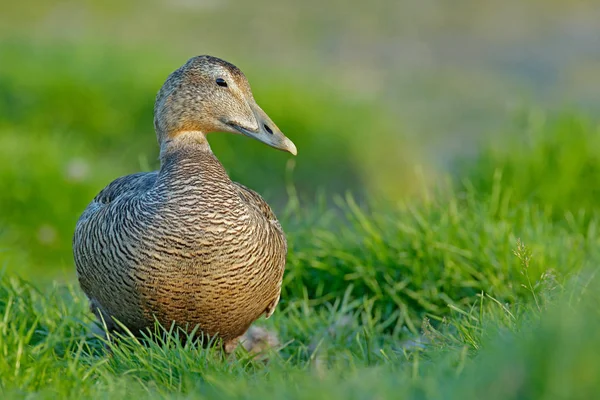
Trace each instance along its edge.
<instances>
[{"instance_id":1,"label":"all the grassy ground around the duck, below the blurred backdrop","mask_svg":"<svg viewBox=\"0 0 600 400\"><path fill-rule=\"evenodd\" d=\"M283 344L266 361L243 349L223 359L182 347L176 334L145 346L125 337L109 343L110 354L92 337L74 286L40 291L4 275L0 392L593 398L600 389L597 219L551 223L528 204L501 211L494 196L458 198L390 209L387 223L348 201L338 235L318 228L309 240L305 228L288 228L284 299L259 322Z\"/></svg>"}]
</instances>

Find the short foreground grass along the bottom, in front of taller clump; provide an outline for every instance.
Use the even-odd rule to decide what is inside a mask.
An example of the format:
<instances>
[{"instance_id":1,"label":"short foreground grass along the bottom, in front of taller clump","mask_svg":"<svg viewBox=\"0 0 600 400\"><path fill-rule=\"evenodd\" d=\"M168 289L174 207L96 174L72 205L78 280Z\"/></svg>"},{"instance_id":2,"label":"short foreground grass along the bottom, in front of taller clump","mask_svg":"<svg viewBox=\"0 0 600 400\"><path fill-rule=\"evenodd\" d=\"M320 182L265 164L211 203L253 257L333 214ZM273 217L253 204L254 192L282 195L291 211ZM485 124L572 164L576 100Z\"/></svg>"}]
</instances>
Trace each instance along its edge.
<instances>
[{"instance_id":1,"label":"short foreground grass along the bottom, in front of taller clump","mask_svg":"<svg viewBox=\"0 0 600 400\"><path fill-rule=\"evenodd\" d=\"M418 335L390 332L380 309L348 291L315 305L290 298L266 321L285 345L267 361L171 336L140 344L124 337L112 354L90 332L81 293L40 292L0 281L0 393L3 398L591 398L599 389L598 282L590 270L563 280L531 279L518 245L516 284L503 303L480 293L469 307L424 319ZM517 273L517 272L520 272ZM261 321L265 324L265 321ZM410 339L410 340L409 340Z\"/></svg>"}]
</instances>

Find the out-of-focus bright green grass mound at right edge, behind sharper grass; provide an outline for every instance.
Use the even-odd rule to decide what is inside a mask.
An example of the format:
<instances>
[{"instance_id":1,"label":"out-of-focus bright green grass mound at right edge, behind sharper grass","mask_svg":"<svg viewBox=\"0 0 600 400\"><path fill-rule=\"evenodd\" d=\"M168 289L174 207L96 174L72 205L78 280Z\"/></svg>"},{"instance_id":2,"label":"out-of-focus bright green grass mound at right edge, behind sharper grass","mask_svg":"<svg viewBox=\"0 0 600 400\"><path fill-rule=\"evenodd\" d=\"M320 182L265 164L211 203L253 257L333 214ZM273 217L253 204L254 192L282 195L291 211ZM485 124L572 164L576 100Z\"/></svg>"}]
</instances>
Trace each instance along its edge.
<instances>
[{"instance_id":1,"label":"out-of-focus bright green grass mound at right edge, behind sharper grass","mask_svg":"<svg viewBox=\"0 0 600 400\"><path fill-rule=\"evenodd\" d=\"M559 220L565 210L589 215L599 204L600 126L577 112L522 112L458 173L488 192L496 171L515 200L543 204Z\"/></svg>"}]
</instances>

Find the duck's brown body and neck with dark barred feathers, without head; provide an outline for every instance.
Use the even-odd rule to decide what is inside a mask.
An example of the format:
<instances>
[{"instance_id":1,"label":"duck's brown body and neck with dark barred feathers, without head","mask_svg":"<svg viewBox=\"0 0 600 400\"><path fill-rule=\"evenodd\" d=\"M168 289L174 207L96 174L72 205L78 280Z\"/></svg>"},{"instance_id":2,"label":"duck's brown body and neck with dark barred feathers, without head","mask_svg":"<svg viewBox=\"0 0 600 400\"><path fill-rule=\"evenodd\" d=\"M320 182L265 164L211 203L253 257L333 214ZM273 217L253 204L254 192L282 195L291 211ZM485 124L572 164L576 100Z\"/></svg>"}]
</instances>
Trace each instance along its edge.
<instances>
[{"instance_id":1,"label":"duck's brown body and neck with dark barred feathers, without head","mask_svg":"<svg viewBox=\"0 0 600 400\"><path fill-rule=\"evenodd\" d=\"M163 326L235 341L279 301L287 244L268 204L232 182L208 143L174 146L159 171L121 177L77 222L92 310L116 329Z\"/></svg>"}]
</instances>

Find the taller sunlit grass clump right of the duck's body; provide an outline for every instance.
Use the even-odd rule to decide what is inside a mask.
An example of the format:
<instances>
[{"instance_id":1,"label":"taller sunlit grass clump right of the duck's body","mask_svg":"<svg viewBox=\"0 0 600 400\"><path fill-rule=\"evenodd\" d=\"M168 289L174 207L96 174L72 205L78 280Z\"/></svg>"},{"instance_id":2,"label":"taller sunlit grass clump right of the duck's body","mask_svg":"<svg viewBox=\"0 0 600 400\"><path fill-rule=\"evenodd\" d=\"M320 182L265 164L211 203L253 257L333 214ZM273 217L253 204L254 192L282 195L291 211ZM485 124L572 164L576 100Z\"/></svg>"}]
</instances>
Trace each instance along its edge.
<instances>
[{"instance_id":1,"label":"taller sunlit grass clump right of the duck's body","mask_svg":"<svg viewBox=\"0 0 600 400\"><path fill-rule=\"evenodd\" d=\"M597 217L567 212L555 222L547 209L505 193L496 179L485 196L437 191L431 200L371 211L348 197L338 202L342 215L295 216L284 224L291 248L284 298L332 300L351 290L373 303L390 330L417 333L423 316L469 307L481 292L501 302L523 297L513 256L519 239L535 254L532 279L600 263Z\"/></svg>"}]
</instances>

